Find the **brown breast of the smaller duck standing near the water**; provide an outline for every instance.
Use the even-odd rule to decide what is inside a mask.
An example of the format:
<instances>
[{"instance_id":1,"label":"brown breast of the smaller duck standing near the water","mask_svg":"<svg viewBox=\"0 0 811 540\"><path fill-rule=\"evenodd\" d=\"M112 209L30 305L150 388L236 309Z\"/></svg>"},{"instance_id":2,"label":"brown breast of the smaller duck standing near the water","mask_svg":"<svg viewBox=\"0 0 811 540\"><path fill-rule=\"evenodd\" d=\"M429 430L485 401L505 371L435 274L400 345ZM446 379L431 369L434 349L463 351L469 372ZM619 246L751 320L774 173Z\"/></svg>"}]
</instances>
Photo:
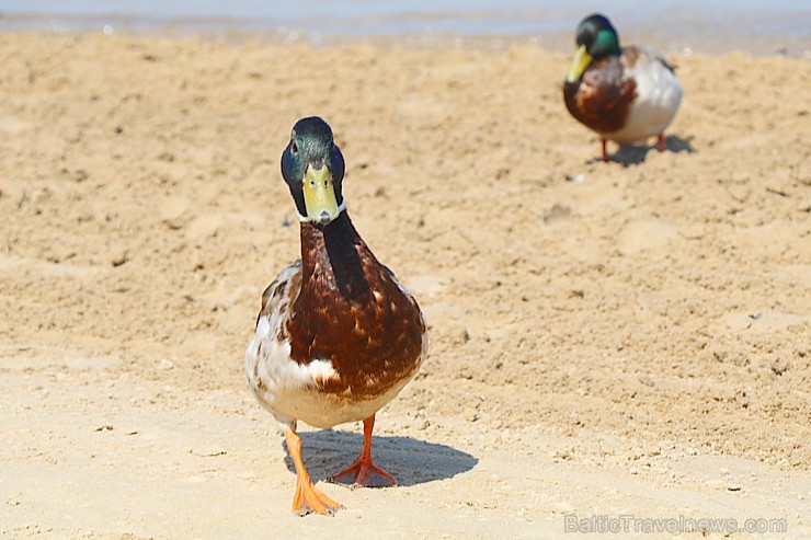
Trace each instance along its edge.
<instances>
[{"instance_id":1,"label":"brown breast of the smaller duck standing near the water","mask_svg":"<svg viewBox=\"0 0 811 540\"><path fill-rule=\"evenodd\" d=\"M625 77L617 56L592 62L579 81L563 85L563 100L572 116L599 133L621 129L636 97L637 83Z\"/></svg>"}]
</instances>

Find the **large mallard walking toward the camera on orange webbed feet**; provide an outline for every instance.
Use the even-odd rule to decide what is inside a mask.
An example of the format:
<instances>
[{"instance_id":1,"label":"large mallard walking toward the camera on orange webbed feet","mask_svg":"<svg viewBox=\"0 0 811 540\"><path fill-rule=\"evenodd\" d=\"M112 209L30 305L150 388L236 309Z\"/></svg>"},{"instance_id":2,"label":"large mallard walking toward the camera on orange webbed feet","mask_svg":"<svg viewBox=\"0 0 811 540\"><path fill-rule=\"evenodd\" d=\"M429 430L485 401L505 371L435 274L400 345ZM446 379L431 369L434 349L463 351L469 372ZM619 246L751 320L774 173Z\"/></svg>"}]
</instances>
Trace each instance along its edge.
<instances>
[{"instance_id":1,"label":"large mallard walking toward the camera on orange webbed feet","mask_svg":"<svg viewBox=\"0 0 811 540\"><path fill-rule=\"evenodd\" d=\"M427 326L413 296L352 225L343 156L324 120L296 123L282 175L298 210L301 258L262 295L245 374L253 395L278 421L296 467L293 510L332 514L341 505L312 484L297 421L323 428L363 421L361 455L329 480L395 485L372 460L375 413L416 375L427 355Z\"/></svg>"}]
</instances>

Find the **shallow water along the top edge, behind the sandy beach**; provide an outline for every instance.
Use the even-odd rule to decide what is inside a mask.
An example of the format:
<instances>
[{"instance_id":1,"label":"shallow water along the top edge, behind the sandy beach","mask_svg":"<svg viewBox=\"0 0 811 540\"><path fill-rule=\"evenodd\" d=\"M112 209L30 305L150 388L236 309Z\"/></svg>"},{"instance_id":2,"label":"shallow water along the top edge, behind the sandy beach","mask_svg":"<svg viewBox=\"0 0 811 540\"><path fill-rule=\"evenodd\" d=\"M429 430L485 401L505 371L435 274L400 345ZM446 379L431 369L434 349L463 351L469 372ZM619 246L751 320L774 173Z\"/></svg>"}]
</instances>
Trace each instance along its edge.
<instances>
[{"instance_id":1,"label":"shallow water along the top edge, behind the sandy beach","mask_svg":"<svg viewBox=\"0 0 811 540\"><path fill-rule=\"evenodd\" d=\"M585 0L307 0L232 2L203 0L12 0L0 5L0 30L138 32L179 34L271 33L316 44L338 38L410 36L415 45L470 43L483 37L530 39L551 49L571 48L583 15L605 8ZM665 50L809 55L811 2L615 0L607 13L629 42Z\"/></svg>"}]
</instances>

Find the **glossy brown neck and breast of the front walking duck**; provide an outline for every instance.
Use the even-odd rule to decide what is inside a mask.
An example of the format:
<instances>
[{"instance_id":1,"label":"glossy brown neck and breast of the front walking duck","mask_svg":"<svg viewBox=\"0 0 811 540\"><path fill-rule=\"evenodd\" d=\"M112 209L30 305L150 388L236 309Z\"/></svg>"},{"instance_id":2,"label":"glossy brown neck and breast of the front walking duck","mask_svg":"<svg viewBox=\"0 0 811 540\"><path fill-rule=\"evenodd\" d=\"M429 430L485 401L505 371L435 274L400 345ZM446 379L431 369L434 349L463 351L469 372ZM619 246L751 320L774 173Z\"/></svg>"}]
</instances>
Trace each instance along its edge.
<instances>
[{"instance_id":1,"label":"glossy brown neck and breast of the front walking duck","mask_svg":"<svg viewBox=\"0 0 811 540\"><path fill-rule=\"evenodd\" d=\"M421 361L425 325L416 301L398 286L357 234L346 212L327 227L301 223L301 285L286 333L299 364L329 359L327 392L385 392Z\"/></svg>"}]
</instances>

